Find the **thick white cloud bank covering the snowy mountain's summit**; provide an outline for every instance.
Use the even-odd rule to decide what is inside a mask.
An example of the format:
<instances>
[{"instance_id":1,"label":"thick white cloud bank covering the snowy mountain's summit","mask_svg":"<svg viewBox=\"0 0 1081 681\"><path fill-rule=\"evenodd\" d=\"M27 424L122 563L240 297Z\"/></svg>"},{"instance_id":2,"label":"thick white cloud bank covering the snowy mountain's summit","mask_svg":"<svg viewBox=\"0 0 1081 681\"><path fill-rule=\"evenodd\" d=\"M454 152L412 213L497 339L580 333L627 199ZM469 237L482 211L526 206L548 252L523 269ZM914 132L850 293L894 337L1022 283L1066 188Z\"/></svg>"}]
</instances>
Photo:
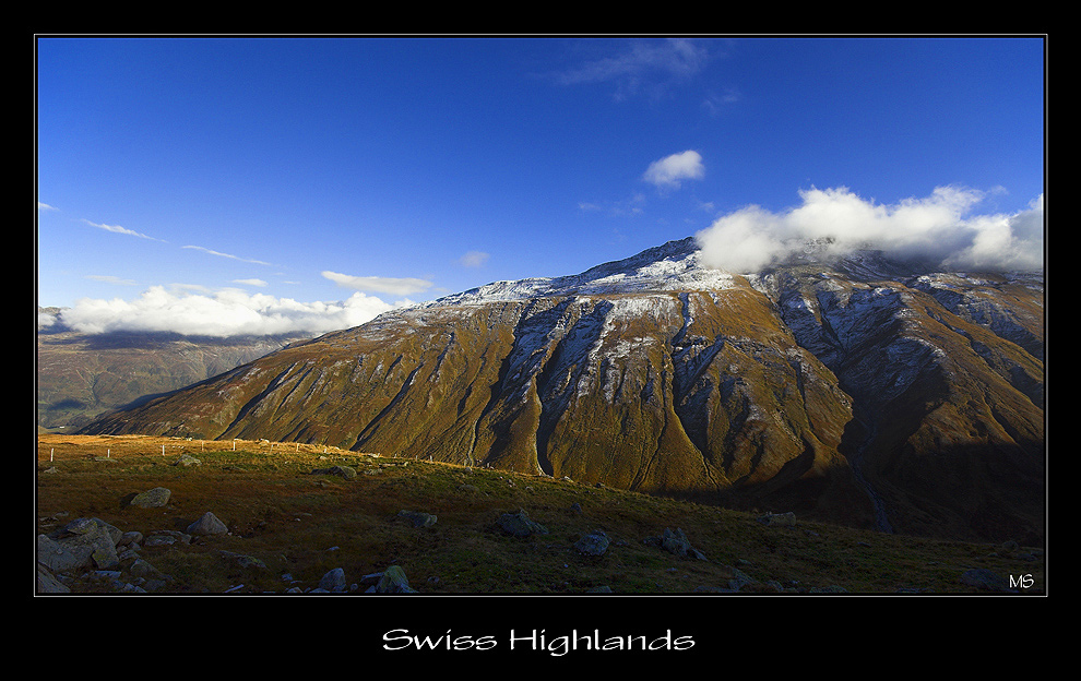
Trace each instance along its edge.
<instances>
[{"instance_id":1,"label":"thick white cloud bank covering the snowy mountain's summit","mask_svg":"<svg viewBox=\"0 0 1081 681\"><path fill-rule=\"evenodd\" d=\"M774 213L750 205L718 218L696 235L702 262L736 273L824 244L825 256L856 249L896 258L932 260L943 267L975 271L1043 267L1043 195L1015 214L972 215L985 193L940 187L925 199L877 204L847 188L799 192L803 203Z\"/></svg>"}]
</instances>

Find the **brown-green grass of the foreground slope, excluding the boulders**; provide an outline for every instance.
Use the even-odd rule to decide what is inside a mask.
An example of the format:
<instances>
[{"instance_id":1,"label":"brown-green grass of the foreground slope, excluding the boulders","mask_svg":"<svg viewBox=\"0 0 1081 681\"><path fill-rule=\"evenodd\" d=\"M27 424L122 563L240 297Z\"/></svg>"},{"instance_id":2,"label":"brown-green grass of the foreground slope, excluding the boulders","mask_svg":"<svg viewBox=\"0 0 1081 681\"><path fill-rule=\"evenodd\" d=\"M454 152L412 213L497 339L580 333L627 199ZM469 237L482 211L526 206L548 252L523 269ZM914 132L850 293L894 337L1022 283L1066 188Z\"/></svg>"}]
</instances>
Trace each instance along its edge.
<instances>
[{"instance_id":1,"label":"brown-green grass of the foreground slope, excluding the boulders","mask_svg":"<svg viewBox=\"0 0 1081 681\"><path fill-rule=\"evenodd\" d=\"M421 594L581 594L601 586L617 594L680 594L726 585L733 566L759 581L752 592L769 590L761 585L775 581L856 594L976 593L960 583L970 568L1003 577L1031 574L1034 585L1025 593L1044 592L1042 558L998 557L990 545L804 521L768 527L755 514L716 506L446 463L324 453L314 445L241 441L231 447L166 438L40 435L38 531L76 517L143 534L183 530L211 511L228 525L228 536L143 552L175 577L173 590L188 594L239 584L236 593L281 593L283 573L307 588L334 568L356 582L393 564ZM171 466L182 452L202 464ZM311 474L334 464L361 475L345 480ZM123 505L131 493L158 486L173 492L168 506ZM572 510L575 503L581 512ZM500 514L519 509L549 534L503 534ZM401 510L433 513L438 522L416 529L395 518ZM643 541L665 527L681 528L708 560L679 559ZM574 541L594 529L604 529L613 545L602 558L580 555ZM219 550L257 557L268 569L236 568Z\"/></svg>"}]
</instances>

